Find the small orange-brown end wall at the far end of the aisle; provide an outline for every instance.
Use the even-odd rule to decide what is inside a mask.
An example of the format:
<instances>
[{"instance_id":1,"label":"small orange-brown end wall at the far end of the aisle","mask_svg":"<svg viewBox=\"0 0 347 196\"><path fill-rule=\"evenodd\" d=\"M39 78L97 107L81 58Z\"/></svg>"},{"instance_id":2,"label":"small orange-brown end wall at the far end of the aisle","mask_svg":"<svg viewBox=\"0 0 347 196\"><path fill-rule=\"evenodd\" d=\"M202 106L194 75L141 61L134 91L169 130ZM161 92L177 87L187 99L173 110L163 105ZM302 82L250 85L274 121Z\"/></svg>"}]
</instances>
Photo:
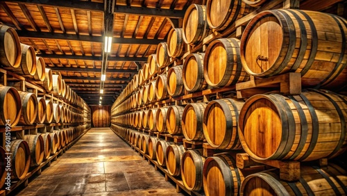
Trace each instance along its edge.
<instances>
[{"instance_id":1,"label":"small orange-brown end wall at the far end of the aisle","mask_svg":"<svg viewBox=\"0 0 347 196\"><path fill-rule=\"evenodd\" d=\"M92 110L92 126L108 127L110 126L111 106L90 106Z\"/></svg>"}]
</instances>

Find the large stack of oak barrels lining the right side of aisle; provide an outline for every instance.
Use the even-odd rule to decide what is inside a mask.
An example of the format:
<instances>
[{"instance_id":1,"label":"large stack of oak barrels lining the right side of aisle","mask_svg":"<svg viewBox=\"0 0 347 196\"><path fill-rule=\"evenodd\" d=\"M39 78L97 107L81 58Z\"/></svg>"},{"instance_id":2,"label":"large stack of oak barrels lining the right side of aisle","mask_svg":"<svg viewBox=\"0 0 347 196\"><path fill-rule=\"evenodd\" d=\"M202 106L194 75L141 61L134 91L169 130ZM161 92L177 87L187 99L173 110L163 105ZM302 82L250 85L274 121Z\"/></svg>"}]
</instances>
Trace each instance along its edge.
<instances>
[{"instance_id":1,"label":"large stack of oak barrels lining the right side of aisle","mask_svg":"<svg viewBox=\"0 0 347 196\"><path fill-rule=\"evenodd\" d=\"M264 10L241 39L204 40L211 31L231 31L237 19L264 2L208 0L206 6L189 6L183 28L171 29L112 105L111 128L171 176L180 176L185 188L205 195L346 195L346 168L305 164L347 149L347 97L341 95L347 90L346 19ZM187 45L194 51L203 44L204 50L187 52ZM209 101L173 101L289 72L301 74L300 95L269 92L237 99L229 93ZM204 157L201 149L185 149L151 132L208 142L223 152L242 150L259 161L300 161L301 179L283 181L277 170L264 167L242 170L233 153Z\"/></svg>"}]
</instances>

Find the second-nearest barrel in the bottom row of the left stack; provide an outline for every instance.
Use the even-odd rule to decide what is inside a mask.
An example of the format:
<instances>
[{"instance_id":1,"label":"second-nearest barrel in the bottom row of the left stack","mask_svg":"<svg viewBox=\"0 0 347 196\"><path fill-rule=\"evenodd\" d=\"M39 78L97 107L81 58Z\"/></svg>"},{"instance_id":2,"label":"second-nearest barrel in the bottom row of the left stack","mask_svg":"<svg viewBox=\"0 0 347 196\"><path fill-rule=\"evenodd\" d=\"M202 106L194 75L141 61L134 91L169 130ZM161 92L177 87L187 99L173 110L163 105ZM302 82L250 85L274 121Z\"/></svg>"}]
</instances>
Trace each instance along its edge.
<instances>
[{"instance_id":1,"label":"second-nearest barrel in the bottom row of the left stack","mask_svg":"<svg viewBox=\"0 0 347 196\"><path fill-rule=\"evenodd\" d=\"M24 135L24 140L28 142L31 154L30 166L38 166L44 159L44 140L41 135Z\"/></svg>"}]
</instances>

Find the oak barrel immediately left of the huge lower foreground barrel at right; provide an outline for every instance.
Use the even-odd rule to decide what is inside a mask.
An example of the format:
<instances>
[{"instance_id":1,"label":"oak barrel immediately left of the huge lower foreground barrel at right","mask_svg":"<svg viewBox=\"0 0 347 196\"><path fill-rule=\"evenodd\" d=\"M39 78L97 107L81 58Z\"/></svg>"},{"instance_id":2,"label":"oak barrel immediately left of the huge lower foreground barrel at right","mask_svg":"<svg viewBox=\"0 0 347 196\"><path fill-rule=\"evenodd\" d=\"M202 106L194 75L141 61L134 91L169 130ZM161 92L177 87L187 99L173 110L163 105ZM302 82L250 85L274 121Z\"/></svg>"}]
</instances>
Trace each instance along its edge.
<instances>
[{"instance_id":1,"label":"oak barrel immediately left of the huge lower foreground barrel at right","mask_svg":"<svg viewBox=\"0 0 347 196\"><path fill-rule=\"evenodd\" d=\"M216 99L210 101L203 113L203 135L218 149L242 149L237 133L242 99Z\"/></svg>"}]
</instances>

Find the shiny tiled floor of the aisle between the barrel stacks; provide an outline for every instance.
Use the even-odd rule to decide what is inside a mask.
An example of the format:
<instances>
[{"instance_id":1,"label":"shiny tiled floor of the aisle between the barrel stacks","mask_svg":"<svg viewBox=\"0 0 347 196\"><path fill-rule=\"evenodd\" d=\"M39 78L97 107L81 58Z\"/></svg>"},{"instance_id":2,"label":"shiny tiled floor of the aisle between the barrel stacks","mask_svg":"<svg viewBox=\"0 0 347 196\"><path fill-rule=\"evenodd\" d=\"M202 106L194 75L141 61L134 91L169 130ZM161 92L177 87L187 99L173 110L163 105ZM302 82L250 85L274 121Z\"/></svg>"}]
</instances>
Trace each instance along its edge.
<instances>
[{"instance_id":1,"label":"shiny tiled floor of the aisle between the barrel stacks","mask_svg":"<svg viewBox=\"0 0 347 196\"><path fill-rule=\"evenodd\" d=\"M93 128L18 195L181 194L109 128Z\"/></svg>"}]
</instances>

